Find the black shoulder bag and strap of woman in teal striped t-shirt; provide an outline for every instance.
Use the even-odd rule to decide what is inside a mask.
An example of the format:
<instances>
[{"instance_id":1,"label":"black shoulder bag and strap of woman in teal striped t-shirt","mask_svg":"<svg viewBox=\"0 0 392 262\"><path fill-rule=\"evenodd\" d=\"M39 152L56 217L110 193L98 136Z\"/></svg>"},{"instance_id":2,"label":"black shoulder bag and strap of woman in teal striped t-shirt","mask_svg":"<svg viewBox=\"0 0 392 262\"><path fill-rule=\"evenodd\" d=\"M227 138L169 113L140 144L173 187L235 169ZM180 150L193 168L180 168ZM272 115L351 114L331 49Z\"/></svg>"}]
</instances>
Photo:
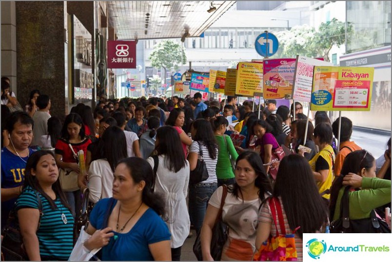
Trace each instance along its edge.
<instances>
[{"instance_id":1,"label":"black shoulder bag and strap of woman in teal striped t-shirt","mask_svg":"<svg viewBox=\"0 0 392 262\"><path fill-rule=\"evenodd\" d=\"M35 193L39 209L38 231L43 213L41 199L39 198L38 192L35 191ZM4 257L4 261L29 261L29 257L24 248L23 238L20 234L18 214L15 207L10 212L1 235L3 236L3 240L1 241L1 253Z\"/></svg>"}]
</instances>

